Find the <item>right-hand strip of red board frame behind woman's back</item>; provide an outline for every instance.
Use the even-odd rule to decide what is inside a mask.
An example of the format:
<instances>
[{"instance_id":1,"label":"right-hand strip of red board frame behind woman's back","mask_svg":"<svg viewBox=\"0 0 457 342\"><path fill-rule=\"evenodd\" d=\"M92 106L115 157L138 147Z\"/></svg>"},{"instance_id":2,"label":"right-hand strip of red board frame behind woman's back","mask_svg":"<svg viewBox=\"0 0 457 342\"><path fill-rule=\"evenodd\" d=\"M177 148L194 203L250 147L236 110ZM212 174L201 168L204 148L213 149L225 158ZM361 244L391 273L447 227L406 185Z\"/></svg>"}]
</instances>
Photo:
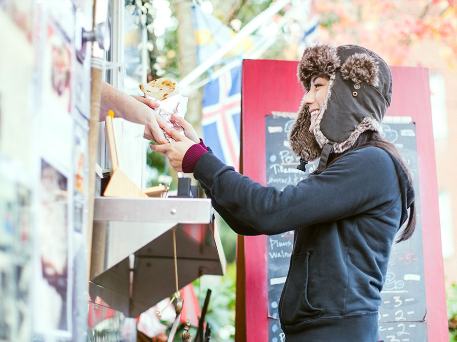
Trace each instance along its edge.
<instances>
[{"instance_id":1,"label":"right-hand strip of red board frame behind woman's back","mask_svg":"<svg viewBox=\"0 0 457 342\"><path fill-rule=\"evenodd\" d=\"M432 131L429 72L426 68L391 67L394 77L389 116L412 117L416 123L419 193L422 220L424 273L427 297L429 341L449 339L441 232L438 211L438 184Z\"/></svg>"}]
</instances>

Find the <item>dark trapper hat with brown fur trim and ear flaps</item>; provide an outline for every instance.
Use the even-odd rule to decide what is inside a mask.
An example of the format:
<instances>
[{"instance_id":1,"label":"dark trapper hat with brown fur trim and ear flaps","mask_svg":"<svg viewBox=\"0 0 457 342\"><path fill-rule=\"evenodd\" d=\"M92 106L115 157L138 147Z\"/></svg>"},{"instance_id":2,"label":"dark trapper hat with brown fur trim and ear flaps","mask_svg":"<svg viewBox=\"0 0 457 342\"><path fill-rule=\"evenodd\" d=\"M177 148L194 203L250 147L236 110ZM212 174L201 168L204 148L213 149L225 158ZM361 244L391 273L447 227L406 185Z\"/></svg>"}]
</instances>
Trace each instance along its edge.
<instances>
[{"instance_id":1,"label":"dark trapper hat with brown fur trim and ear flaps","mask_svg":"<svg viewBox=\"0 0 457 342\"><path fill-rule=\"evenodd\" d=\"M384 60L356 45L308 47L300 60L297 76L310 89L315 76L330 78L327 93L317 113L314 133L309 107L302 101L289 133L293 153L302 161L319 156L318 171L327 164L331 151L342 153L367 130L381 131L381 122L392 97L392 75Z\"/></svg>"}]
</instances>

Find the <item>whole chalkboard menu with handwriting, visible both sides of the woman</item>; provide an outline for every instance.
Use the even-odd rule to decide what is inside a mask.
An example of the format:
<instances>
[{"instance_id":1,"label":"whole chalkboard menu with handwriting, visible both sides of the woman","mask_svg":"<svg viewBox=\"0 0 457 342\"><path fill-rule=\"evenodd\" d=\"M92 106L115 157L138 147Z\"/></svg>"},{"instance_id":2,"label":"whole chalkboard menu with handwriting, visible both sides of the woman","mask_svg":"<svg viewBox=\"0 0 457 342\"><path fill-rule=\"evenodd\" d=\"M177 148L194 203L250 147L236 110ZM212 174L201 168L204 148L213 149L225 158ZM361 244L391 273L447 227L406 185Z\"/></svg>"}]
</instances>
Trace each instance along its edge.
<instances>
[{"instance_id":1,"label":"whole chalkboard menu with handwriting, visible both sides of the woman","mask_svg":"<svg viewBox=\"0 0 457 342\"><path fill-rule=\"evenodd\" d=\"M425 281L423 279L422 232L419 207L419 178L415 126L395 118L383 123L384 138L402 153L414 181L417 223L412 238L394 244L379 310L379 334L384 342L427 341ZM287 134L294 119L266 116L266 180L268 186L283 189L297 184L317 167L309 163L306 172L297 170L299 158L289 147ZM402 230L399 231L401 233ZM267 237L268 328L269 341L282 342L278 306L289 268L293 231Z\"/></svg>"}]
</instances>

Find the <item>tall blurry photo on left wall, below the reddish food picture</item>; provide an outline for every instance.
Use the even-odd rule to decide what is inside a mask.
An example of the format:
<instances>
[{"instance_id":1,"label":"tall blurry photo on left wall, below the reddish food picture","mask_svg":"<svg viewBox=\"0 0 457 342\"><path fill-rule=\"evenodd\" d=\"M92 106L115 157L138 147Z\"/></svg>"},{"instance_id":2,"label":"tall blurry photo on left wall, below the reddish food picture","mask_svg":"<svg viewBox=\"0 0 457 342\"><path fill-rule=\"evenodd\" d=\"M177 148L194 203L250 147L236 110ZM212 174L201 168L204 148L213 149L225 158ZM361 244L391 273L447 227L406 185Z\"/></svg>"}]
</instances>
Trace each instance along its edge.
<instances>
[{"instance_id":1,"label":"tall blurry photo on left wall, below the reddish food picture","mask_svg":"<svg viewBox=\"0 0 457 342\"><path fill-rule=\"evenodd\" d=\"M35 330L68 331L69 233L68 178L54 166L41 161L40 209L37 246L39 274L36 279Z\"/></svg>"}]
</instances>

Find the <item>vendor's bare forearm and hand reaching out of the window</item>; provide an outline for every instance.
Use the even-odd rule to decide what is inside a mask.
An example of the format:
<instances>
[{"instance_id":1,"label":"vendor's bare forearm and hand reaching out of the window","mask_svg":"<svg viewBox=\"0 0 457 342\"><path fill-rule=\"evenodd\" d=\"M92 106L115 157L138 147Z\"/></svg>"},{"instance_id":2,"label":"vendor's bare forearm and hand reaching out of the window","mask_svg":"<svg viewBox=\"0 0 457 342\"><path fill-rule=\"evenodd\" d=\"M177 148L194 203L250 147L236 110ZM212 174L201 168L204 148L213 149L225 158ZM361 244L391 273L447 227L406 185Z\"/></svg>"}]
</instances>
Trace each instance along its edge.
<instances>
[{"instance_id":1,"label":"vendor's bare forearm and hand reaching out of the window","mask_svg":"<svg viewBox=\"0 0 457 342\"><path fill-rule=\"evenodd\" d=\"M108 111L113 110L116 117L144 125L146 139L164 144L168 141L160 126L165 126L165 121L152 109L157 107L152 99L127 95L102 81L100 121L104 121Z\"/></svg>"}]
</instances>

